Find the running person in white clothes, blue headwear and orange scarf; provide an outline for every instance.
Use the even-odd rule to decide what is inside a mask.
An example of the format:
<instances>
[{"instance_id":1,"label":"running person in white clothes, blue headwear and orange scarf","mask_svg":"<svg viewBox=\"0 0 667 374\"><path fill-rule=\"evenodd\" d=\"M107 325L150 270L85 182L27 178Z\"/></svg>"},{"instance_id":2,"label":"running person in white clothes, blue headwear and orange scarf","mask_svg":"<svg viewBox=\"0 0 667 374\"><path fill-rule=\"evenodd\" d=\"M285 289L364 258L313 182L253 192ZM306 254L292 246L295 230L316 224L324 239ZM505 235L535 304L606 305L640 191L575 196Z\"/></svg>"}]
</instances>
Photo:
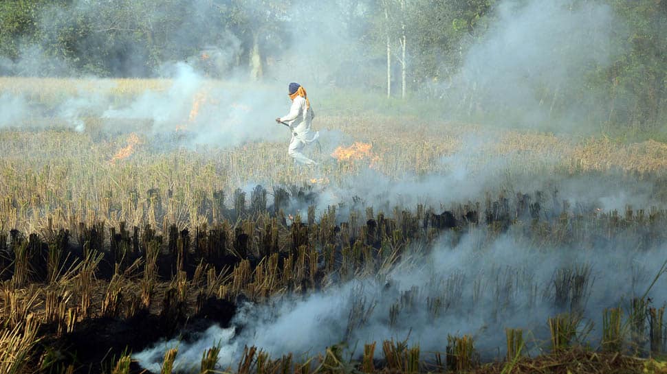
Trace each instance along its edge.
<instances>
[{"instance_id":1,"label":"running person in white clothes, blue headwear and orange scarf","mask_svg":"<svg viewBox=\"0 0 667 374\"><path fill-rule=\"evenodd\" d=\"M298 165L317 165L315 161L303 154L305 146L317 141L320 137L320 133L314 132L311 128L315 113L306 95L306 90L300 84L292 82L289 84L289 98L292 100L289 113L285 117L276 118L278 124L286 124L292 130L292 140L289 141L287 154Z\"/></svg>"}]
</instances>

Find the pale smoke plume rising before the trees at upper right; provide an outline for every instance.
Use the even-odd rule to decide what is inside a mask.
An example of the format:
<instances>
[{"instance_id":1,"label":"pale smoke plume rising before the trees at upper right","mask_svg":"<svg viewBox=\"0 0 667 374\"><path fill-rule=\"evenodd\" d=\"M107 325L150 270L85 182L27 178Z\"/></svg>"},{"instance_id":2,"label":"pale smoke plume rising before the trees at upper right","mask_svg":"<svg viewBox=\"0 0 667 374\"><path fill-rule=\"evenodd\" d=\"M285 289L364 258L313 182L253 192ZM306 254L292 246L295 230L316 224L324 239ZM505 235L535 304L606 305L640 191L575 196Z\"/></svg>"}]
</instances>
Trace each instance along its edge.
<instances>
[{"instance_id":1,"label":"pale smoke plume rising before the trees at upper right","mask_svg":"<svg viewBox=\"0 0 667 374\"><path fill-rule=\"evenodd\" d=\"M595 1L501 1L494 19L465 52L450 83L440 85L448 106L493 126L556 132L598 130L595 95L577 97L622 47L625 26L609 5Z\"/></svg>"}]
</instances>

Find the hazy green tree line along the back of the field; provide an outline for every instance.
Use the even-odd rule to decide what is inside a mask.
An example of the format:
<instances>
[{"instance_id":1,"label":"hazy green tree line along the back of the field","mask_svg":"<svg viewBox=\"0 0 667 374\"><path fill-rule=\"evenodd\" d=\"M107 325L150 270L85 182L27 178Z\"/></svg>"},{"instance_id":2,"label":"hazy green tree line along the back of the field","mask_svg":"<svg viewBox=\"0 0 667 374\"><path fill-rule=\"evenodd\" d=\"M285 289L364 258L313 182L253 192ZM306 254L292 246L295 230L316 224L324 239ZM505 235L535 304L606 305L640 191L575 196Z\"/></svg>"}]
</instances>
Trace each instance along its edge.
<instances>
[{"instance_id":1,"label":"hazy green tree line along the back of the field","mask_svg":"<svg viewBox=\"0 0 667 374\"><path fill-rule=\"evenodd\" d=\"M303 67L316 84L450 99L457 103L452 110L471 114L514 104L490 102L511 96L494 88L507 82L479 78L499 69L497 75L514 79L502 71L512 65L494 66L485 61L494 58L484 56L470 64L466 56L499 32L499 9L531 2L536 1L5 0L0 73L150 77L167 62L187 60L219 78L242 72L262 80ZM582 19L582 26L590 22L591 32L579 39L564 35L565 43L545 47L545 58L554 62L576 60L562 77L548 67L522 68L532 98L549 115L571 113L585 102L593 121L665 126L667 1L555 3L573 14L590 9L591 19ZM595 7L613 14L609 32L600 34L604 40L595 40L598 27L607 27L595 24ZM512 27L513 21L503 22ZM511 37L500 44L511 43ZM583 58L582 47L609 58Z\"/></svg>"}]
</instances>

